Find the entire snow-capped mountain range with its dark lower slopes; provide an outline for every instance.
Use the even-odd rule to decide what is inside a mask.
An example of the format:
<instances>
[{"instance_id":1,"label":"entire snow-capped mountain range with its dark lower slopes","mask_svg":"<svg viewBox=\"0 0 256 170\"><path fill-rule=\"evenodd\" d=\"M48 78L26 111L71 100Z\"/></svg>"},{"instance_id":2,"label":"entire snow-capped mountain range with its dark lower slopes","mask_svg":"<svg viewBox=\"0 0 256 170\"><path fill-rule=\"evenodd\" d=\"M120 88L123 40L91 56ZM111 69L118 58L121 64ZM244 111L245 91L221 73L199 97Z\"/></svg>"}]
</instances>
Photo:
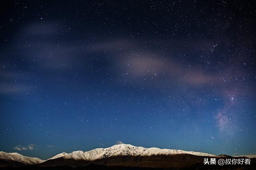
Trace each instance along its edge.
<instances>
[{"instance_id":1,"label":"entire snow-capped mountain range with its dark lower slopes","mask_svg":"<svg viewBox=\"0 0 256 170\"><path fill-rule=\"evenodd\" d=\"M174 149L135 147L129 144L90 151L62 152L49 158L31 158L18 153L0 152L0 166L88 166L98 164L122 167L187 168L203 165L204 158L230 158ZM255 158L251 158L255 162Z\"/></svg>"}]
</instances>

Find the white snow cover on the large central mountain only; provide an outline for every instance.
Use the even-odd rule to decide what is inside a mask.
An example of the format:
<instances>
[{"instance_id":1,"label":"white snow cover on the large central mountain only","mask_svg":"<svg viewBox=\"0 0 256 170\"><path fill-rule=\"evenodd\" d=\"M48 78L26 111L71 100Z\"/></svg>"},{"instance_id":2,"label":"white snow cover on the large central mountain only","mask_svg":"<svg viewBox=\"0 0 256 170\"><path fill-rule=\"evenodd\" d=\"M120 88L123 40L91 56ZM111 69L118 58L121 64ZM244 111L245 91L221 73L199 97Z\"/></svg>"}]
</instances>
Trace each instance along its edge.
<instances>
[{"instance_id":1,"label":"white snow cover on the large central mountain only","mask_svg":"<svg viewBox=\"0 0 256 170\"><path fill-rule=\"evenodd\" d=\"M212 156L217 157L214 154L208 154L203 152L193 152L193 151L184 151L176 149L159 149L159 148L144 148L144 147L135 147L129 144L120 144L114 145L109 148L98 148L93 149L87 152L81 150L74 151L69 154L63 155L64 159L74 159L74 160L96 160L101 158L107 158L110 156L120 156L120 155L129 155L129 156L151 156L157 154L193 154L197 156ZM56 155L57 156L57 155ZM61 157L61 154L58 154L58 157ZM53 157L54 158L54 157ZM50 158L50 159L53 159Z\"/></svg>"}]
</instances>

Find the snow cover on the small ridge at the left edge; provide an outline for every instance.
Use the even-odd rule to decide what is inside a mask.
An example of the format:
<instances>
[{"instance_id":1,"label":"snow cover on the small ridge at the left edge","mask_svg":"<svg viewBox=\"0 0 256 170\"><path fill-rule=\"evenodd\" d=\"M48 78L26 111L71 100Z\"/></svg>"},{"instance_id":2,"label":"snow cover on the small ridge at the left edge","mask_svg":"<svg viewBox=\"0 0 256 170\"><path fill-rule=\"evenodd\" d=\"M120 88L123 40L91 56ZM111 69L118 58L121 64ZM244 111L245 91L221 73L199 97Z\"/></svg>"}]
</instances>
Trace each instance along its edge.
<instances>
[{"instance_id":1,"label":"snow cover on the small ridge at the left edge","mask_svg":"<svg viewBox=\"0 0 256 170\"><path fill-rule=\"evenodd\" d=\"M0 158L4 160L13 160L16 162L20 162L23 164L38 164L43 162L44 160L41 160L39 158L31 158L28 156L23 156L22 154L19 153L6 153L6 152L0 152Z\"/></svg>"}]
</instances>

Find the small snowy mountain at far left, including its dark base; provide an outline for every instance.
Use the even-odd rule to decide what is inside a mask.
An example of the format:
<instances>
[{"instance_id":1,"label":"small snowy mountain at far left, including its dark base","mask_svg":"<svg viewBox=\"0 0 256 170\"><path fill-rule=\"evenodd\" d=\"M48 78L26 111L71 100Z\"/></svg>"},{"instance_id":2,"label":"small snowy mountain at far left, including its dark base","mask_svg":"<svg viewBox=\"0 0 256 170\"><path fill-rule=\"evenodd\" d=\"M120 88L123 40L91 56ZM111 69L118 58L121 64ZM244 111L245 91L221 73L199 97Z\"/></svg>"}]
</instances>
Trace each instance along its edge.
<instances>
[{"instance_id":1,"label":"small snowy mountain at far left, including its dark base","mask_svg":"<svg viewBox=\"0 0 256 170\"><path fill-rule=\"evenodd\" d=\"M23 156L19 153L6 153L6 152L0 152L0 166L8 166L8 165L30 165L30 164L39 164L43 162L44 160L41 160L39 158L31 158L28 156Z\"/></svg>"}]
</instances>

